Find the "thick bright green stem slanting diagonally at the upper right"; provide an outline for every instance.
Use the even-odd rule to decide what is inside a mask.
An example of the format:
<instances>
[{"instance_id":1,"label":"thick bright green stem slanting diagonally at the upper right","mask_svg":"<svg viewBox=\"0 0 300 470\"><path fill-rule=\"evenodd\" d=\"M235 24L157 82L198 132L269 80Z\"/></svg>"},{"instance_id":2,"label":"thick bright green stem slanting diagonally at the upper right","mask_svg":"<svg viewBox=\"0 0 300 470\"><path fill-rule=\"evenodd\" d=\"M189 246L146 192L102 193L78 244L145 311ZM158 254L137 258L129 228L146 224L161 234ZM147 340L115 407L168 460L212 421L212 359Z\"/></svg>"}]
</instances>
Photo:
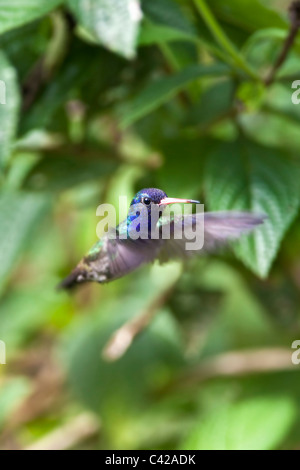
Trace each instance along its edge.
<instances>
[{"instance_id":1,"label":"thick bright green stem slanting diagonally at the upper right","mask_svg":"<svg viewBox=\"0 0 300 470\"><path fill-rule=\"evenodd\" d=\"M226 36L223 29L218 24L212 12L206 5L205 0L194 0L194 3L216 41L231 57L233 64L242 69L252 79L260 80L259 76L254 72L250 65L247 64L245 59L240 55L230 39Z\"/></svg>"}]
</instances>

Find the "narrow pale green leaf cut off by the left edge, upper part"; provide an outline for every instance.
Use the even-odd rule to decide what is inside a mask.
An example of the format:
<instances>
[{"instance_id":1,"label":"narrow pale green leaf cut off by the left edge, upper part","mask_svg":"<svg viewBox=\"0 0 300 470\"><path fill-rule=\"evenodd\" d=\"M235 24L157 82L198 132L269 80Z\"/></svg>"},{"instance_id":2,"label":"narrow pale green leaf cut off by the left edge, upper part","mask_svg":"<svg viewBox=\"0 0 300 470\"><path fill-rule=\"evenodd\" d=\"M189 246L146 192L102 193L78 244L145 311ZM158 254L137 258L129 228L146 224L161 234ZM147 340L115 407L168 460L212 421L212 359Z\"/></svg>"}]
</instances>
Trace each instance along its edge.
<instances>
[{"instance_id":1,"label":"narrow pale green leaf cut off by the left edge, upper part","mask_svg":"<svg viewBox=\"0 0 300 470\"><path fill-rule=\"evenodd\" d=\"M16 135L20 94L15 69L0 51L0 168L5 168Z\"/></svg>"}]
</instances>

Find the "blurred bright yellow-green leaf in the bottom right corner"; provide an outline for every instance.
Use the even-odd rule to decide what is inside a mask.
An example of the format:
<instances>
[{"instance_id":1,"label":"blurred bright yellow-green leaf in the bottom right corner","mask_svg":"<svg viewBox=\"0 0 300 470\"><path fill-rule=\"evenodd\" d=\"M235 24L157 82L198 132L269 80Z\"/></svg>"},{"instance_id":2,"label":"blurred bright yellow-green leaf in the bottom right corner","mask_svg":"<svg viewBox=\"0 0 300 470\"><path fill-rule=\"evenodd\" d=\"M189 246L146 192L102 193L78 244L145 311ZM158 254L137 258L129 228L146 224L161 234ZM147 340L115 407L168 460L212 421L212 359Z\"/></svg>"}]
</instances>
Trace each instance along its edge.
<instances>
[{"instance_id":1,"label":"blurred bright yellow-green leaf in the bottom right corner","mask_svg":"<svg viewBox=\"0 0 300 470\"><path fill-rule=\"evenodd\" d=\"M295 414L294 402L285 397L258 397L229 405L204 417L180 449L275 449L290 430Z\"/></svg>"}]
</instances>

